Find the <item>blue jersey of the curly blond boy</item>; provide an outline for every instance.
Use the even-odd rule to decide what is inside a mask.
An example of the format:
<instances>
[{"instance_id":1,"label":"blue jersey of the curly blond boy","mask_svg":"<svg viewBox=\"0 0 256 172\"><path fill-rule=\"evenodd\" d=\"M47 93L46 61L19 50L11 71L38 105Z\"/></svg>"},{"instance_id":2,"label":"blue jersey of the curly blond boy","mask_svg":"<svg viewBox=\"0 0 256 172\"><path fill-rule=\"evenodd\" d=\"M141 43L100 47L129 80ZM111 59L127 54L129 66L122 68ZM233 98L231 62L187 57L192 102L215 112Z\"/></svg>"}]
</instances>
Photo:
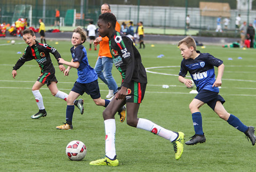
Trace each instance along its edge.
<instances>
[{"instance_id":1,"label":"blue jersey of the curly blond boy","mask_svg":"<svg viewBox=\"0 0 256 172\"><path fill-rule=\"evenodd\" d=\"M78 83L86 84L97 80L98 75L95 70L89 65L85 47L83 45L78 45L74 49L73 46L71 47L70 52L72 54L73 61L80 63L79 67L77 68L78 78L76 81Z\"/></svg>"}]
</instances>

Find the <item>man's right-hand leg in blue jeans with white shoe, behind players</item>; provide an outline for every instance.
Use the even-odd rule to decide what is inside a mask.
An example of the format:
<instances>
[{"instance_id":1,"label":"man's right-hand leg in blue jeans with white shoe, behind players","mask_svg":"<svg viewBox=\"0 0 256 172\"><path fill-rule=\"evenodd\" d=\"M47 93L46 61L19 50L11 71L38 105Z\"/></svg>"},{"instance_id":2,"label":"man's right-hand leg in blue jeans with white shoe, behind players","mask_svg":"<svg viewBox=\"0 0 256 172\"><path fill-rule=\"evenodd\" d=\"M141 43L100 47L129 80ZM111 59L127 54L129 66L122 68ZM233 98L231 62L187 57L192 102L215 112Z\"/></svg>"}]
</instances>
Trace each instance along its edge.
<instances>
[{"instance_id":1,"label":"man's right-hand leg in blue jeans with white shoe, behind players","mask_svg":"<svg viewBox=\"0 0 256 172\"><path fill-rule=\"evenodd\" d=\"M114 96L114 93L117 91L117 84L111 73L113 67L113 59L107 57L102 58L102 67L103 76L106 79L109 88L109 93L106 98L109 99Z\"/></svg>"}]
</instances>

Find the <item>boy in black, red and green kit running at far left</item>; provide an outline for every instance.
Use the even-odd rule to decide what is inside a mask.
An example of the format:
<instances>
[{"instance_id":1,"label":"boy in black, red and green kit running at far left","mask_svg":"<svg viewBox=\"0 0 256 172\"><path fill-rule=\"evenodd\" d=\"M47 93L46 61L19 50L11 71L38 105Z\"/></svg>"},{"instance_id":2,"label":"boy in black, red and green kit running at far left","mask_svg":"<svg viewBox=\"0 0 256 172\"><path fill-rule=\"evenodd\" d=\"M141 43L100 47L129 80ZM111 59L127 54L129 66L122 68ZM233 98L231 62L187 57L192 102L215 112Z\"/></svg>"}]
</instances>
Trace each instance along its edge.
<instances>
[{"instance_id":1,"label":"boy in black, red and green kit running at far left","mask_svg":"<svg viewBox=\"0 0 256 172\"><path fill-rule=\"evenodd\" d=\"M38 77L36 83L32 87L32 93L35 96L36 103L39 111L31 116L32 119L38 119L41 117L46 117L47 113L45 111L43 97L39 92L39 89L45 84L50 89L51 93L55 97L59 97L67 101L68 94L59 91L57 88L58 80L55 77L55 69L53 67L50 53L52 53L56 60L60 59L61 56L58 51L47 44L41 44L36 41L36 36L33 30L25 29L23 31L23 39L28 46L25 49L22 57L17 61L12 70L12 76L15 79L17 76L17 70L27 61L35 59L41 68L41 75ZM65 71L65 67L59 63L60 71ZM75 104L79 107L79 110L83 111L83 100L76 101Z\"/></svg>"}]
</instances>

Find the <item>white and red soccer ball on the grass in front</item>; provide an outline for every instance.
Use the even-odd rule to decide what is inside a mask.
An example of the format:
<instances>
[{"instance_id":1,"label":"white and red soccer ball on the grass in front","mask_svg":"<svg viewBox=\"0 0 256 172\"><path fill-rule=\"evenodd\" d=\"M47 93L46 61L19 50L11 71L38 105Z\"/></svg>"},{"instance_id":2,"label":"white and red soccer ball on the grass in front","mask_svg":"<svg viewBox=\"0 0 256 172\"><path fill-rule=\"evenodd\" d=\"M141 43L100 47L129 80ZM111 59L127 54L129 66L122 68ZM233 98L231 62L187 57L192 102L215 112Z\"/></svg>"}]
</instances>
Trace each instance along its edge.
<instances>
[{"instance_id":1,"label":"white and red soccer ball on the grass in front","mask_svg":"<svg viewBox=\"0 0 256 172\"><path fill-rule=\"evenodd\" d=\"M71 141L67 145L66 154L72 161L80 161L86 155L86 146L81 141Z\"/></svg>"}]
</instances>

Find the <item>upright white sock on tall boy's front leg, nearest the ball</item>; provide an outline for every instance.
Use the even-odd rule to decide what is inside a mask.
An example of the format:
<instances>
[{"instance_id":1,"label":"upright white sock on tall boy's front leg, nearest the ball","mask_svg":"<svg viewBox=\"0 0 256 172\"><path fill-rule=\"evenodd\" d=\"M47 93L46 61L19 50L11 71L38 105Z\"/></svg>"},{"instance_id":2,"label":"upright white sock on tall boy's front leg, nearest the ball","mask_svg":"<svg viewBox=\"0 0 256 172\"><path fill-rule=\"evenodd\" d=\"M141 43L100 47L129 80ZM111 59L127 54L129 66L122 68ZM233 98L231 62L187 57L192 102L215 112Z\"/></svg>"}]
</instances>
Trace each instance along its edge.
<instances>
[{"instance_id":1,"label":"upright white sock on tall boy's front leg, nearest the ball","mask_svg":"<svg viewBox=\"0 0 256 172\"><path fill-rule=\"evenodd\" d=\"M107 119L105 123L105 147L106 147L106 156L110 159L113 159L116 155L115 148L115 134L116 134L116 122L115 119Z\"/></svg>"}]
</instances>

